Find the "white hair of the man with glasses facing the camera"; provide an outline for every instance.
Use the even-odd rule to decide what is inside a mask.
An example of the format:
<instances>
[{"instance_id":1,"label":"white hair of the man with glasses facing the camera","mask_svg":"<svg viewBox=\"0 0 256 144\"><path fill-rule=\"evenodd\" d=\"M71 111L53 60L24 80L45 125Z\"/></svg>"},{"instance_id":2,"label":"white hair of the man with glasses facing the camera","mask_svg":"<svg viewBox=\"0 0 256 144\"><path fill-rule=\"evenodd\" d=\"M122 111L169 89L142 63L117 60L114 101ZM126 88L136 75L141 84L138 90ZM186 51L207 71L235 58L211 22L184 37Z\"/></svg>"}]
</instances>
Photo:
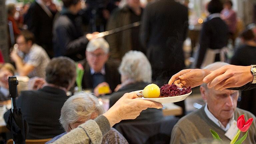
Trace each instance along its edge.
<instances>
[{"instance_id":1,"label":"white hair of the man with glasses facing the camera","mask_svg":"<svg viewBox=\"0 0 256 144\"><path fill-rule=\"evenodd\" d=\"M109 53L109 44L102 37L91 39L87 44L86 51L93 52L98 48L101 48L105 52L105 54Z\"/></svg>"}]
</instances>

